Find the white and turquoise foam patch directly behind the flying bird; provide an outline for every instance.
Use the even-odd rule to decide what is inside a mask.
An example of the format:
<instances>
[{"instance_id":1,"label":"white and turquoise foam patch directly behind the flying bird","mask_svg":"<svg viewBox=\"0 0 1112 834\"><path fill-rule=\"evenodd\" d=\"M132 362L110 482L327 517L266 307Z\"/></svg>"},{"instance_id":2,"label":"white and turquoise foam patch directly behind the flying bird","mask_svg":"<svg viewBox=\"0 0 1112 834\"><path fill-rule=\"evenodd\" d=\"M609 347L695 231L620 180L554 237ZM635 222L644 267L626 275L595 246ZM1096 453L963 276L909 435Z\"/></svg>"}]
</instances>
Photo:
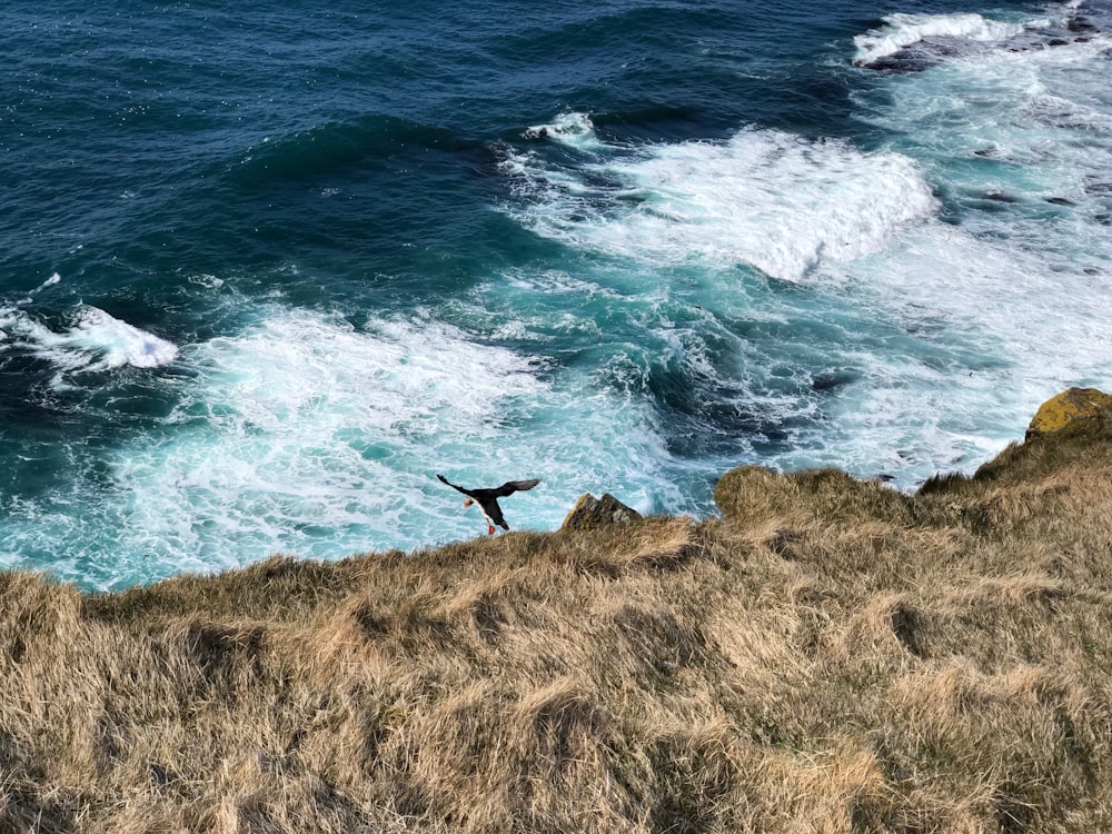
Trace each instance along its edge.
<instances>
[{"instance_id":1,"label":"white and turquoise foam patch directly behind the flying bird","mask_svg":"<svg viewBox=\"0 0 1112 834\"><path fill-rule=\"evenodd\" d=\"M612 471L643 510L678 499L654 463L667 451L651 409L583 379L557 389L530 357L428 316L355 328L276 307L240 335L187 346L179 363L190 370L175 384L179 407L160 439L109 457L112 489L67 498L49 535L46 505L14 513L0 549L49 545L79 562L112 552L112 565L79 574L109 587L275 552L480 534L437 471L464 484L543 478L506 507L515 528L558 525L579 493L613 488ZM76 506L85 532L63 524Z\"/></svg>"}]
</instances>

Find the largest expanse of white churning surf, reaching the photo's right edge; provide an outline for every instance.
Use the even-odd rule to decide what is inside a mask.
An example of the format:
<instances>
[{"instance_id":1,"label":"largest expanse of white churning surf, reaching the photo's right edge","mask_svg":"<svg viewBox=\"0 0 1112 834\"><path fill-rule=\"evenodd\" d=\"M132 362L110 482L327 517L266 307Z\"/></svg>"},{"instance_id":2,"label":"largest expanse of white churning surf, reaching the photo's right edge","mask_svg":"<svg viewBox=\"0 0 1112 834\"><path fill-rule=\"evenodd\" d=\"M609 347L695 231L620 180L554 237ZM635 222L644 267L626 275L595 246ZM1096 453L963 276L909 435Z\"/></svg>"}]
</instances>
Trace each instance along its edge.
<instances>
[{"instance_id":1,"label":"largest expanse of white churning surf, reaching the photo's right edge","mask_svg":"<svg viewBox=\"0 0 1112 834\"><path fill-rule=\"evenodd\" d=\"M895 22L915 38L989 43L1044 21ZM876 88L878 121L907 140L884 150L749 129L727 142L604 146L574 165L512 157L512 214L613 259L608 272L627 265L646 301L699 270L713 292L698 309L746 336L715 336L714 363L697 347L713 328L668 344L695 390L753 415L737 421L753 431L737 440L743 455L886 470L911 487L986 459L1046 396L1095 384L1112 363L1098 324L1112 316L1109 101L1099 76L1079 72L1103 50L1086 39L986 49L892 77ZM765 298L738 265L813 295ZM646 350L671 327L647 331Z\"/></svg>"}]
</instances>

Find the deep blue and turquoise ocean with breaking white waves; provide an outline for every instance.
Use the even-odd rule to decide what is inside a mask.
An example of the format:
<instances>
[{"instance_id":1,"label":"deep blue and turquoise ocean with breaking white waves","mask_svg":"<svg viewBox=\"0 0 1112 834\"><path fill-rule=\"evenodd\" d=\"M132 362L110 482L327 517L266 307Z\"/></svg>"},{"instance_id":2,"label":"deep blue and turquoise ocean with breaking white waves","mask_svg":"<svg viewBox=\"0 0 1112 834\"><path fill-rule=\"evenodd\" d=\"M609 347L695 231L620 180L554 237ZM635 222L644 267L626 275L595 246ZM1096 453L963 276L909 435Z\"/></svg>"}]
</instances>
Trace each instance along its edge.
<instances>
[{"instance_id":1,"label":"deep blue and turquoise ocean with breaking white waves","mask_svg":"<svg viewBox=\"0 0 1112 834\"><path fill-rule=\"evenodd\" d=\"M9 0L0 565L912 490L1112 388L1112 2Z\"/></svg>"}]
</instances>

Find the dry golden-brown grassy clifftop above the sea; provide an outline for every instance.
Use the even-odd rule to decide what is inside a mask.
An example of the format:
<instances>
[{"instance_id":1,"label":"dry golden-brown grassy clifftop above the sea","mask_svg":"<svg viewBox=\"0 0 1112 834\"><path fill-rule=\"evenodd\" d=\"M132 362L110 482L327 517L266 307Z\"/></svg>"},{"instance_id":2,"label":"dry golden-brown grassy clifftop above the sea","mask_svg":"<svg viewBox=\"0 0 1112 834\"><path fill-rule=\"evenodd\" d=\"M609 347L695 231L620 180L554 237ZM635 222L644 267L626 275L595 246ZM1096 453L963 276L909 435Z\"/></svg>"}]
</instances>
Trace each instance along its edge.
<instances>
[{"instance_id":1,"label":"dry golden-brown grassy clifftop above the sea","mask_svg":"<svg viewBox=\"0 0 1112 834\"><path fill-rule=\"evenodd\" d=\"M719 519L0 574L0 831L1112 830L1108 414L915 495L739 468Z\"/></svg>"}]
</instances>

